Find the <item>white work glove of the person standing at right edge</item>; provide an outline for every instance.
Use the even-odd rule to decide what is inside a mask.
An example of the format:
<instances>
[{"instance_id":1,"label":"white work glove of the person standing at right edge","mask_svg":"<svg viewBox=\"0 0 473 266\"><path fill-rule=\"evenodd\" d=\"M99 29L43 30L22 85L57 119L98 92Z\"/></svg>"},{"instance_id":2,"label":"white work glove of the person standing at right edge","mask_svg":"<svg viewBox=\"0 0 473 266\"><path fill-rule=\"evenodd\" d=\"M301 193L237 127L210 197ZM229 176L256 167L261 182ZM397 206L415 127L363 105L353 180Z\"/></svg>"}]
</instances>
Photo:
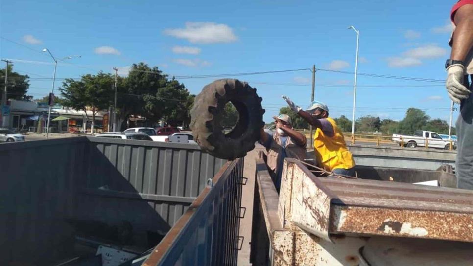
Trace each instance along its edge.
<instances>
[{"instance_id":1,"label":"white work glove of the person standing at right edge","mask_svg":"<svg viewBox=\"0 0 473 266\"><path fill-rule=\"evenodd\" d=\"M447 73L447 81L445 82L447 92L453 102L460 104L460 101L467 99L471 92L463 85L465 67L461 64L451 65L447 68Z\"/></svg>"}]
</instances>

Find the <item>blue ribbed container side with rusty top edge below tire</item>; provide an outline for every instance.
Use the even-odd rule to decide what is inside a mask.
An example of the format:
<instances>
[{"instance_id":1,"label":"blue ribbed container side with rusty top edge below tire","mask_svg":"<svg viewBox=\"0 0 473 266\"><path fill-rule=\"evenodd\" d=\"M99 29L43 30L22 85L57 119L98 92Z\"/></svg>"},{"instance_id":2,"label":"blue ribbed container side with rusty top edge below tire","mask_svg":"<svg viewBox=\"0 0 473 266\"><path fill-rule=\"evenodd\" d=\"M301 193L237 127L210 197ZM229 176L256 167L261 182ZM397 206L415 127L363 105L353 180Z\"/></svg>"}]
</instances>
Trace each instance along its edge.
<instances>
[{"instance_id":1,"label":"blue ribbed container side with rusty top edge below tire","mask_svg":"<svg viewBox=\"0 0 473 266\"><path fill-rule=\"evenodd\" d=\"M144 265L237 265L243 164L228 162L213 177Z\"/></svg>"}]
</instances>

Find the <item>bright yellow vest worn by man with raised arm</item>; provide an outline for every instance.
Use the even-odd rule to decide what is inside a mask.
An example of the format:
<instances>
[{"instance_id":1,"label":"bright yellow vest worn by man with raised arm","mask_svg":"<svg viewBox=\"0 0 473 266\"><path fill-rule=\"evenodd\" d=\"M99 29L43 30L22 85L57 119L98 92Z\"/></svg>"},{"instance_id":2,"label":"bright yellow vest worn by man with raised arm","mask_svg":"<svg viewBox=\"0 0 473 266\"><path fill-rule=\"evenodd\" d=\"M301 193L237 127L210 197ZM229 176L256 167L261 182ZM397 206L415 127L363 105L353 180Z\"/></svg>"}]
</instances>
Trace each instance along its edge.
<instances>
[{"instance_id":1,"label":"bright yellow vest worn by man with raised arm","mask_svg":"<svg viewBox=\"0 0 473 266\"><path fill-rule=\"evenodd\" d=\"M329 137L321 129L314 134L314 152L319 167L328 171L342 168L350 169L355 166L352 153L347 149L343 133L337 127L335 120L327 118L333 127L334 136Z\"/></svg>"}]
</instances>

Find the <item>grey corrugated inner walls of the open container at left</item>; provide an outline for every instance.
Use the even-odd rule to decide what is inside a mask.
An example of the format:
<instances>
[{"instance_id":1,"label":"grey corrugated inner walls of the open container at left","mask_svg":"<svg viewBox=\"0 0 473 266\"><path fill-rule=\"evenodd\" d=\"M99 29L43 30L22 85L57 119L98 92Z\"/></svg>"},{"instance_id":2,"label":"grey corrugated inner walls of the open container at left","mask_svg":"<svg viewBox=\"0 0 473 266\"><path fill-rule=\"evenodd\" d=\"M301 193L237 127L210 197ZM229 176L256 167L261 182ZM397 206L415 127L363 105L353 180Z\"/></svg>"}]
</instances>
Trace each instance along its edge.
<instances>
[{"instance_id":1,"label":"grey corrugated inner walls of the open container at left","mask_svg":"<svg viewBox=\"0 0 473 266\"><path fill-rule=\"evenodd\" d=\"M90 221L129 223L132 242L147 245L146 233L164 235L225 162L187 144L96 137L1 144L0 265L66 256Z\"/></svg>"}]
</instances>

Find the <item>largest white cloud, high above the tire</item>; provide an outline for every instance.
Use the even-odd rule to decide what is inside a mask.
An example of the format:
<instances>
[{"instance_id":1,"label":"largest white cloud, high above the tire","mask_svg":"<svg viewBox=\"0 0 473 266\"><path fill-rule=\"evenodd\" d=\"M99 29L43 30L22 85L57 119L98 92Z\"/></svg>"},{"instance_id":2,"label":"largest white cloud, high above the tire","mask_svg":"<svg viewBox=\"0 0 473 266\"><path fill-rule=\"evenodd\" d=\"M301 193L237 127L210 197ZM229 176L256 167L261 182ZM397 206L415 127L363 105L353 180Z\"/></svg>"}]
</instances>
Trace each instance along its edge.
<instances>
[{"instance_id":1,"label":"largest white cloud, high above the tire","mask_svg":"<svg viewBox=\"0 0 473 266\"><path fill-rule=\"evenodd\" d=\"M232 43L238 39L231 27L214 22L186 22L185 28L166 29L164 33L194 44Z\"/></svg>"}]
</instances>

